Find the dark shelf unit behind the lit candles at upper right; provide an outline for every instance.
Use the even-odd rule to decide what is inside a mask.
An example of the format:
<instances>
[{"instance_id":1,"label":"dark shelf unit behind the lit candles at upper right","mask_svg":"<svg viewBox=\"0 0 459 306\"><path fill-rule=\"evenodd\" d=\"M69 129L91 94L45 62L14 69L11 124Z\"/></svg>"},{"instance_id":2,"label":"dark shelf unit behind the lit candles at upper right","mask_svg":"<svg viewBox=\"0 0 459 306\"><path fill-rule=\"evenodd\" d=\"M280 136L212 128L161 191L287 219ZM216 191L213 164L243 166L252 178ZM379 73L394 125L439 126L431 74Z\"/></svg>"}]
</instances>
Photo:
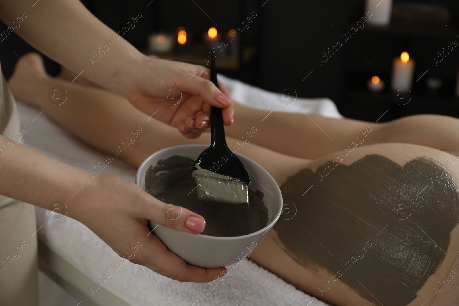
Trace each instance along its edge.
<instances>
[{"instance_id":1,"label":"dark shelf unit behind the lit candles at upper right","mask_svg":"<svg viewBox=\"0 0 459 306\"><path fill-rule=\"evenodd\" d=\"M454 48L438 65L434 61L438 52L453 40L459 42L456 35L459 29L445 9L433 8L442 17L440 19L431 11L425 12L422 3L414 7L422 14L410 12L408 6L394 6L389 25L377 27L366 23L346 45L343 60L347 79L340 105L344 116L378 122L419 113L459 117L459 98L455 96L459 49ZM348 23L348 27L351 26L353 24ZM408 51L416 63L410 93L405 94L404 101L411 100L405 105L400 105L403 102L393 96L390 88L392 60L402 51ZM368 80L374 75L385 79L382 92L371 92L367 88ZM442 80L439 89L427 88L426 80L431 77Z\"/></svg>"}]
</instances>

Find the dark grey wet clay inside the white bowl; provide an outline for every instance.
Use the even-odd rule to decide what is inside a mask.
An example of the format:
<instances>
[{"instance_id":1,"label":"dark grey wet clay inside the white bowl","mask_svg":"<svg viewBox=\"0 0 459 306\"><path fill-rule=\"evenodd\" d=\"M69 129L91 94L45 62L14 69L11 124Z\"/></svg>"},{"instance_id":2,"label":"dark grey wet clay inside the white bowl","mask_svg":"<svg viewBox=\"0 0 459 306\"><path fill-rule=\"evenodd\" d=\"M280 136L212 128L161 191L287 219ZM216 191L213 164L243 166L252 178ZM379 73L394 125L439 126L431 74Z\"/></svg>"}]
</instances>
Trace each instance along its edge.
<instances>
[{"instance_id":1,"label":"dark grey wet clay inside the white bowl","mask_svg":"<svg viewBox=\"0 0 459 306\"><path fill-rule=\"evenodd\" d=\"M234 237L254 233L268 224L268 210L263 192L249 191L250 205L228 205L198 199L196 181L191 172L196 160L170 156L159 160L145 175L147 192L158 200L181 206L200 214L206 220L201 234Z\"/></svg>"}]
</instances>

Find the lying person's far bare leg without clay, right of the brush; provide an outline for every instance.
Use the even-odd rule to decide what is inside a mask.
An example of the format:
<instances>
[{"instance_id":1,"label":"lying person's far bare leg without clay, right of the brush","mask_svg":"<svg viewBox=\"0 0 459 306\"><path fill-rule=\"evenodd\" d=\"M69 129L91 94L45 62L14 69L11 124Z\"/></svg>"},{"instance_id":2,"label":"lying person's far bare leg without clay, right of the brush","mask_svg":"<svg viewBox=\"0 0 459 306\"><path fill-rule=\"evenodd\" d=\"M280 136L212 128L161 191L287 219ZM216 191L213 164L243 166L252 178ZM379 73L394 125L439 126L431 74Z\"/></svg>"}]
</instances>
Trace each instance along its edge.
<instances>
[{"instance_id":1,"label":"lying person's far bare leg without clay, right of the brush","mask_svg":"<svg viewBox=\"0 0 459 306\"><path fill-rule=\"evenodd\" d=\"M235 103L234 117L235 123L226 131L240 143L251 141L301 158L315 159L338 150L350 152L357 146L386 142L425 145L459 154L456 152L459 119L448 116L419 114L376 123L312 114L269 113ZM246 133L252 127L257 133L249 139Z\"/></svg>"}]
</instances>

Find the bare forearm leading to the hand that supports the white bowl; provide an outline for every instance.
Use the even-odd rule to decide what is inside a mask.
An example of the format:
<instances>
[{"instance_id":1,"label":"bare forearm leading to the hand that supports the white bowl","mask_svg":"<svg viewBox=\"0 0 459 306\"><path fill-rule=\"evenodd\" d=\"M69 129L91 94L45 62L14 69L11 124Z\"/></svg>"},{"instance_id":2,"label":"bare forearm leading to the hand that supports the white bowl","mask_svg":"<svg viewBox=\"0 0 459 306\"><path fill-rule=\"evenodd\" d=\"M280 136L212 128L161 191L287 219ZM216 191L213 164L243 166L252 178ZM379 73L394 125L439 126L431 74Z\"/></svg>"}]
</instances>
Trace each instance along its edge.
<instances>
[{"instance_id":1,"label":"bare forearm leading to the hand that supports the white bowl","mask_svg":"<svg viewBox=\"0 0 459 306\"><path fill-rule=\"evenodd\" d=\"M75 192L85 185L91 188L87 172L56 161L0 135L0 194L50 208L58 200L72 206ZM84 188L83 187L83 188ZM75 209L69 209L73 217Z\"/></svg>"}]
</instances>

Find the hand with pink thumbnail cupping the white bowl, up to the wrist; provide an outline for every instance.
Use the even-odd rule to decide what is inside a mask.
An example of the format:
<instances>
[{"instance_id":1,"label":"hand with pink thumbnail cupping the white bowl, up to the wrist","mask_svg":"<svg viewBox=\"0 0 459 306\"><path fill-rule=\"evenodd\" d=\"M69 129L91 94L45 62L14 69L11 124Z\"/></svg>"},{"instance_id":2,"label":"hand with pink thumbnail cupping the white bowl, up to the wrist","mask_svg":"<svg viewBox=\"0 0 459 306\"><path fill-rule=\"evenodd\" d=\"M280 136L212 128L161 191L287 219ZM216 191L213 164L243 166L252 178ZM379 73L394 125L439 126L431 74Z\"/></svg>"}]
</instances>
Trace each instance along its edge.
<instances>
[{"instance_id":1,"label":"hand with pink thumbnail cupping the white bowl, up to the wrist","mask_svg":"<svg viewBox=\"0 0 459 306\"><path fill-rule=\"evenodd\" d=\"M118 176L98 175L93 183L89 184L90 188L79 191L79 196L85 200L74 203L78 209L69 206L67 215L84 223L119 256L183 282L205 283L226 272L224 267L206 269L187 264L168 250L154 233L150 234L147 227L147 221L153 220L164 227L194 235L205 227L200 215L181 209L176 218L171 206L164 209L163 202ZM138 241L141 247L133 253L132 247Z\"/></svg>"}]
</instances>

